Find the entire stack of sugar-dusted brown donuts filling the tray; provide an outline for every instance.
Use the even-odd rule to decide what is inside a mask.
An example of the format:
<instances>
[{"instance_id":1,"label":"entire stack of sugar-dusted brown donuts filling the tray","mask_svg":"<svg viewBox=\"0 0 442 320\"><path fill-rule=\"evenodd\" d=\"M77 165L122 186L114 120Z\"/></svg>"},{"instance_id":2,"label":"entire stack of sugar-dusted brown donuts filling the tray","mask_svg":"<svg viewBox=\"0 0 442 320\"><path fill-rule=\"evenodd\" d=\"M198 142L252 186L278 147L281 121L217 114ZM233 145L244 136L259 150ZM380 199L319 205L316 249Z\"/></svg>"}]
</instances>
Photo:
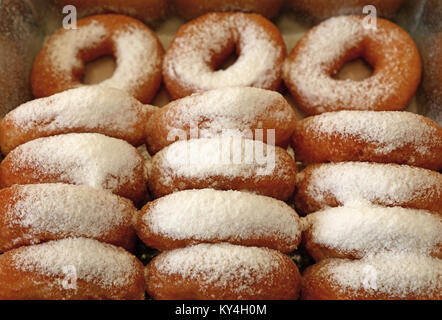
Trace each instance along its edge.
<instances>
[{"instance_id":1,"label":"entire stack of sugar-dusted brown donuts filling the tray","mask_svg":"<svg viewBox=\"0 0 442 320\"><path fill-rule=\"evenodd\" d=\"M340 16L287 55L282 1L171 2L192 20L167 50L140 20L169 1L69 1L85 17L44 43L0 122L0 299L441 299L442 128L403 111L410 36ZM356 58L373 75L336 79Z\"/></svg>"}]
</instances>

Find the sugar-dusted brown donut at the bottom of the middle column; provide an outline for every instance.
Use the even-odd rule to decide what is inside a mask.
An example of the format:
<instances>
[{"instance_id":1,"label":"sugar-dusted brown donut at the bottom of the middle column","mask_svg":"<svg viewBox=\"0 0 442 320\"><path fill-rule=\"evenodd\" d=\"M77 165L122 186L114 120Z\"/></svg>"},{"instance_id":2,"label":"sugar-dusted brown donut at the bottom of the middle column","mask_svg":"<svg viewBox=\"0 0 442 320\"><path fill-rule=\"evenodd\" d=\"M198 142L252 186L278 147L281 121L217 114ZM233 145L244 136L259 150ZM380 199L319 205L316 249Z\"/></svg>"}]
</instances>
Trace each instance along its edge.
<instances>
[{"instance_id":1,"label":"sugar-dusted brown donut at the bottom of the middle column","mask_svg":"<svg viewBox=\"0 0 442 320\"><path fill-rule=\"evenodd\" d=\"M228 243L165 251L145 270L156 300L294 300L301 276L279 251Z\"/></svg>"}]
</instances>

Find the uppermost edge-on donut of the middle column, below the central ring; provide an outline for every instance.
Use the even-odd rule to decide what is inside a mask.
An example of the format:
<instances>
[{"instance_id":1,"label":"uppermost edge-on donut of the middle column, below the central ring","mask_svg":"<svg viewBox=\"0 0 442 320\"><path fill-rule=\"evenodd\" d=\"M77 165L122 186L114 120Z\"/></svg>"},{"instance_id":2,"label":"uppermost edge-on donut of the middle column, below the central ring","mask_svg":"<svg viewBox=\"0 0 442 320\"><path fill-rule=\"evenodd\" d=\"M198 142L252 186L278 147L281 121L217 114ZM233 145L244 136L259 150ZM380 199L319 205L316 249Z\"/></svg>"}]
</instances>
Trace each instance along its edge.
<instances>
[{"instance_id":1,"label":"uppermost edge-on donut of the middle column, below the central ring","mask_svg":"<svg viewBox=\"0 0 442 320\"><path fill-rule=\"evenodd\" d=\"M274 137L273 144L287 147L295 125L295 112L277 92L219 88L194 93L159 109L146 125L146 146L155 154L179 136L211 138L238 131L241 136L268 143L273 143Z\"/></svg>"}]
</instances>

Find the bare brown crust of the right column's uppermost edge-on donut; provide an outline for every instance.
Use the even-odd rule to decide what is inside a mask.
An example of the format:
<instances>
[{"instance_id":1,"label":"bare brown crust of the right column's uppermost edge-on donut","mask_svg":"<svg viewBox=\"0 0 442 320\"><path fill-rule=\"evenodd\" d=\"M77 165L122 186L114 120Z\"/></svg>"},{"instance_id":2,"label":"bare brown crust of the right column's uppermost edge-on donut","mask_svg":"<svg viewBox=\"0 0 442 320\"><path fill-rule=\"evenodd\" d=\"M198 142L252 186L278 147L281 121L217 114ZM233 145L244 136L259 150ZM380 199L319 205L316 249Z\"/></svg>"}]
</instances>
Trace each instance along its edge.
<instances>
[{"instance_id":1,"label":"bare brown crust of the right column's uppermost edge-on donut","mask_svg":"<svg viewBox=\"0 0 442 320\"><path fill-rule=\"evenodd\" d=\"M303 162L304 165L324 162L367 161L408 164L436 171L442 169L442 157L440 156L442 146L436 142L437 140L442 141L442 128L429 118L418 117L425 122L429 129L434 130L433 142L427 142L425 146L408 143L387 153L376 153L376 150L381 149L382 146L374 142L360 140L356 135L345 135L340 132L311 134L308 127L316 124L319 120L317 117L320 116L312 116L299 121L292 138L296 160ZM410 135L412 134L414 133L410 131ZM427 155L417 152L417 148L422 147L429 150Z\"/></svg>"}]
</instances>

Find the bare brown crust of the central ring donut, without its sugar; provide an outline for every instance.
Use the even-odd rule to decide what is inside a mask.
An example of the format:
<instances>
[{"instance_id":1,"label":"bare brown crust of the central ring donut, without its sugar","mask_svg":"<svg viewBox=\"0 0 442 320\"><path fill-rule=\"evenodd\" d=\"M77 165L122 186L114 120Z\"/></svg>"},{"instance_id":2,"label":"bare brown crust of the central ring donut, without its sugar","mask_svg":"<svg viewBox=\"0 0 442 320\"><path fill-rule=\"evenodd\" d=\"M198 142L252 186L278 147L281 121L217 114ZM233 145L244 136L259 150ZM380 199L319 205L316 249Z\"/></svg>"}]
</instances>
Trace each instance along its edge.
<instances>
[{"instance_id":1,"label":"bare brown crust of the central ring donut, without its sugar","mask_svg":"<svg viewBox=\"0 0 442 320\"><path fill-rule=\"evenodd\" d=\"M205 91L207 88L202 89L198 87L193 87L192 84L187 83L184 80L180 79L180 75L174 75L171 71L169 71L167 67L169 61L175 61L177 60L177 56L179 56L179 50L182 46L182 43L184 40L191 39L192 37L195 37L195 35L198 32L198 29L201 29L201 25L205 25L208 22L210 22L211 26L216 26L216 23L219 23L220 25L223 25L226 23L226 20L231 18L235 15L244 15L249 19L250 24L256 24L257 27L260 27L265 30L266 35L273 41L273 48L277 49L277 57L276 57L276 63L272 70L267 70L267 73L270 73L274 70L277 70L278 76L274 77L274 79L271 79L271 81L268 81L269 83L263 87L260 86L262 89L268 89L268 90L277 90L280 87L281 84L281 74L282 74L282 63L284 62L285 56L286 56L286 47L285 43L282 39L281 33L279 29L272 24L269 20L265 19L264 17L258 15L258 14L247 14L247 13L222 13L222 12L212 12L205 14L201 17L198 17L192 21L189 21L180 29L175 35L174 40L172 41L171 45L169 46L167 53L164 57L163 62L163 80L164 84L167 88L167 91L172 98L172 100L176 100L179 98L183 98L185 96L189 96L195 92ZM215 22L213 22L213 21ZM198 29L197 29L198 28ZM231 31L232 32L232 31ZM204 61L207 65L210 66L212 70L215 70L222 62L224 62L231 53L236 49L236 52L238 56L241 55L241 48L237 47L237 44L231 40L227 43L222 45L222 48L220 48L215 54L213 54L210 59L206 59L208 61ZM228 70L228 69L227 69ZM226 70L226 71L227 71ZM175 72L175 71L173 71ZM261 81L262 79L253 79L254 82ZM251 81L249 81L251 82ZM201 84L203 85L203 84ZM201 86L200 85L200 86ZM247 83L243 84L247 86L253 86L257 87L254 83ZM225 85L224 85L225 86ZM232 85L230 85L232 86ZM214 89L214 88L209 88Z\"/></svg>"}]
</instances>

